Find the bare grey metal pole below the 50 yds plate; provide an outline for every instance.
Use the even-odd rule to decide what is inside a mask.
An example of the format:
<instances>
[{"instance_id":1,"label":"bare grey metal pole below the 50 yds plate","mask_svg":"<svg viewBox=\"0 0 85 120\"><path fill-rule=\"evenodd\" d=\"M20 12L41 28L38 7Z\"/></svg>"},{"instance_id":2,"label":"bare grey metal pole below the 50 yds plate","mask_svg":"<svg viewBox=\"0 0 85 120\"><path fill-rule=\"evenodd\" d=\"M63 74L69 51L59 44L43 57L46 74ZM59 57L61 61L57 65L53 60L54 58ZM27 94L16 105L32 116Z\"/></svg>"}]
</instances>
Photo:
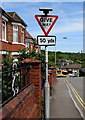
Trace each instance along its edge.
<instances>
[{"instance_id":1,"label":"bare grey metal pole below the 50 yds plate","mask_svg":"<svg viewBox=\"0 0 85 120\"><path fill-rule=\"evenodd\" d=\"M45 118L50 118L50 85L48 82L48 46L45 46L45 54L46 54Z\"/></svg>"}]
</instances>

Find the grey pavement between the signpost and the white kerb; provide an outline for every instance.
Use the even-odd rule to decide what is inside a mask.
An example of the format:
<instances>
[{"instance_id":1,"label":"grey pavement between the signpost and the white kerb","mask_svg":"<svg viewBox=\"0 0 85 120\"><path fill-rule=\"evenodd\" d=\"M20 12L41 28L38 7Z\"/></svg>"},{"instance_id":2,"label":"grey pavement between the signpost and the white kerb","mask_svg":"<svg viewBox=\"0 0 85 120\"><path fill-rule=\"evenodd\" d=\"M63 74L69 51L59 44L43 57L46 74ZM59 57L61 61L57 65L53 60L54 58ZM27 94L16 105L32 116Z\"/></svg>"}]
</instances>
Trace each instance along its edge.
<instances>
[{"instance_id":1,"label":"grey pavement between the signpost and the white kerb","mask_svg":"<svg viewBox=\"0 0 85 120\"><path fill-rule=\"evenodd\" d=\"M65 78L57 78L51 98L51 118L82 118L75 107Z\"/></svg>"}]
</instances>

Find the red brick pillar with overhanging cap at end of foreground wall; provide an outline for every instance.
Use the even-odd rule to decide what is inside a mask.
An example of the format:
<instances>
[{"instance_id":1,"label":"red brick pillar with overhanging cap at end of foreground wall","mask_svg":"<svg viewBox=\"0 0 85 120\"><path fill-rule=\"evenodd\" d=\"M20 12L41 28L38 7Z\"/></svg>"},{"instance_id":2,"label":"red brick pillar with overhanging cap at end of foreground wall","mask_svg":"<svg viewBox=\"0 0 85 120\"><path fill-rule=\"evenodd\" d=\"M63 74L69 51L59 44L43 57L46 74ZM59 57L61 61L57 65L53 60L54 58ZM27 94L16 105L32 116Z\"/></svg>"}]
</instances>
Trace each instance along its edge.
<instances>
[{"instance_id":1,"label":"red brick pillar with overhanging cap at end of foreground wall","mask_svg":"<svg viewBox=\"0 0 85 120\"><path fill-rule=\"evenodd\" d=\"M29 69L29 79L30 82L35 86L35 99L36 104L38 104L39 109L41 107L41 95L42 95L42 89L41 89L41 61L39 60L31 60L31 59L25 59L21 61L20 63L23 64L23 66L30 66Z\"/></svg>"}]
</instances>

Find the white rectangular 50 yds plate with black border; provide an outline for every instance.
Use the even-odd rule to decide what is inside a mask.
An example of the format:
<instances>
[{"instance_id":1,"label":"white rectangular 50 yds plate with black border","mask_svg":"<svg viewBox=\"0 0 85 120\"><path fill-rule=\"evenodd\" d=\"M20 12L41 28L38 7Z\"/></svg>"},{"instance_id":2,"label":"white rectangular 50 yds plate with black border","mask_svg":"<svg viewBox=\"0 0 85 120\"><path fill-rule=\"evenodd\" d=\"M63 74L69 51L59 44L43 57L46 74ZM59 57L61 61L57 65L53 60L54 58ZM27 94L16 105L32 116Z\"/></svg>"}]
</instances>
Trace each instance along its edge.
<instances>
[{"instance_id":1,"label":"white rectangular 50 yds plate with black border","mask_svg":"<svg viewBox=\"0 0 85 120\"><path fill-rule=\"evenodd\" d=\"M54 46L56 44L56 36L37 36L38 45Z\"/></svg>"}]
</instances>

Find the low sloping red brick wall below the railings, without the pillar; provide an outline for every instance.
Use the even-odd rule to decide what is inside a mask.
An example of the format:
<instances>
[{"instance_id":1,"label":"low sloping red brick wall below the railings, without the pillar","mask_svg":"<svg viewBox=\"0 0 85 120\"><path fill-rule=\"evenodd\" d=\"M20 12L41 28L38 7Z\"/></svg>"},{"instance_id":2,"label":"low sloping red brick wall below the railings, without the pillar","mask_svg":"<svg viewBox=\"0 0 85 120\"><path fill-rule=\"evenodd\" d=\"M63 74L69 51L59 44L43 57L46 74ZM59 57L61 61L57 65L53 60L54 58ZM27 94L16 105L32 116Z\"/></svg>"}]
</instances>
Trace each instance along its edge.
<instances>
[{"instance_id":1,"label":"low sloping red brick wall below the railings, without the pillar","mask_svg":"<svg viewBox=\"0 0 85 120\"><path fill-rule=\"evenodd\" d=\"M28 86L0 109L0 119L39 117L40 111L35 103L35 88L33 85Z\"/></svg>"}]
</instances>

